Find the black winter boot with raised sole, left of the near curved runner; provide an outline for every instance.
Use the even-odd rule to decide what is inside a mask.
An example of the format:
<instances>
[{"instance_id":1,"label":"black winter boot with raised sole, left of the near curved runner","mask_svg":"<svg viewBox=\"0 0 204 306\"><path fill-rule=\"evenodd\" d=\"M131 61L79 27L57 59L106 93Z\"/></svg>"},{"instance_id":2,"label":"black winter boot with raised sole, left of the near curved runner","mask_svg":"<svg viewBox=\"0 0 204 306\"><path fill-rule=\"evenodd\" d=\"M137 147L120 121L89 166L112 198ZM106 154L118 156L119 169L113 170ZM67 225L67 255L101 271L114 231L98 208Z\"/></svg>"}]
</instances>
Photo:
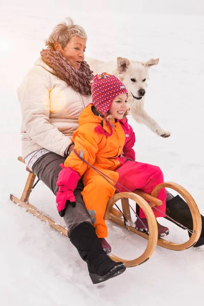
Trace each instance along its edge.
<instances>
[{"instance_id":1,"label":"black winter boot with raised sole, left of the near curved runner","mask_svg":"<svg viewBox=\"0 0 204 306\"><path fill-rule=\"evenodd\" d=\"M122 262L115 263L105 253L95 228L88 222L76 226L69 234L71 243L78 249L81 258L87 263L93 284L107 281L125 271Z\"/></svg>"}]
</instances>

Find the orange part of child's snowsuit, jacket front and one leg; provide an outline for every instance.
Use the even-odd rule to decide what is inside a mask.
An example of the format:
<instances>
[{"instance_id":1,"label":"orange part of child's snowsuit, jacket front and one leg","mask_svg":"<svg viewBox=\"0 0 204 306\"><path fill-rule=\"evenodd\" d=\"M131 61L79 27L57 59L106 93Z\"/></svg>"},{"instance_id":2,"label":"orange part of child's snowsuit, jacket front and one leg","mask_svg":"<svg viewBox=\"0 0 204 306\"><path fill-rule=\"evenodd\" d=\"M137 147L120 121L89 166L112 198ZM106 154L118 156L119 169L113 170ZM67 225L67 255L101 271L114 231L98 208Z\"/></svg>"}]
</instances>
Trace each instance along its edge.
<instances>
[{"instance_id":1,"label":"orange part of child's snowsuit, jacket front and one leg","mask_svg":"<svg viewBox=\"0 0 204 306\"><path fill-rule=\"evenodd\" d=\"M79 128L72 136L74 149L79 155L83 150L84 160L117 182L119 174L115 170L120 166L117 157L121 155L125 143L124 131L119 122L113 121L114 129L111 137L95 132L94 129L101 123L101 118L92 113L91 107L92 104L86 107L79 117ZM103 128L110 133L108 125ZM64 166L77 171L82 177L85 186L82 196L96 234L99 238L107 237L104 215L108 200L114 195L115 188L103 176L81 161L73 151L65 160ZM114 182L112 184L115 185Z\"/></svg>"}]
</instances>

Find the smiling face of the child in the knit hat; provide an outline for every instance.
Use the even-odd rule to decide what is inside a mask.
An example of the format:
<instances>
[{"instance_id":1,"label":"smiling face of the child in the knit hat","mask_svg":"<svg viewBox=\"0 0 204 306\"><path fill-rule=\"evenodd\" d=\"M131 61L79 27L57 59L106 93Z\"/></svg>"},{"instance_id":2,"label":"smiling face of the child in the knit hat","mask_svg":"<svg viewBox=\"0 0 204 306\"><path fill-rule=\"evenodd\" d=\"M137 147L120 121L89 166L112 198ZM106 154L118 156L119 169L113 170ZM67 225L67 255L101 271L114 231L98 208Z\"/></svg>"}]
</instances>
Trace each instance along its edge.
<instances>
[{"instance_id":1,"label":"smiling face of the child in the knit hat","mask_svg":"<svg viewBox=\"0 0 204 306\"><path fill-rule=\"evenodd\" d=\"M122 119L124 113L127 110L127 94L120 93L117 95L113 102L111 103L111 107L108 111L109 115L112 115L115 119Z\"/></svg>"}]
</instances>

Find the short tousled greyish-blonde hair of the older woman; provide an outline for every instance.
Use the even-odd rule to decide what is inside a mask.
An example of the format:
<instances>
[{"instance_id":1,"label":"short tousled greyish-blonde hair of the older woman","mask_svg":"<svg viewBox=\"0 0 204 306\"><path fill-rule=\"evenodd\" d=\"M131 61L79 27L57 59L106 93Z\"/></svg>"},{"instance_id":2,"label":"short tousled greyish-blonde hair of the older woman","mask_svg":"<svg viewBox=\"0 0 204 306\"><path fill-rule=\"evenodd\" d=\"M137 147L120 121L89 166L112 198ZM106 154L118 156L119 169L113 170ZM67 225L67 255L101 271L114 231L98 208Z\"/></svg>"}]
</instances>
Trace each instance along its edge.
<instances>
[{"instance_id":1,"label":"short tousled greyish-blonde hair of the older woman","mask_svg":"<svg viewBox=\"0 0 204 306\"><path fill-rule=\"evenodd\" d=\"M85 30L80 25L74 24L72 18L67 17L66 22L56 25L48 39L45 40L45 45L54 48L54 43L59 42L61 47L65 48L69 40L74 36L87 39Z\"/></svg>"}]
</instances>

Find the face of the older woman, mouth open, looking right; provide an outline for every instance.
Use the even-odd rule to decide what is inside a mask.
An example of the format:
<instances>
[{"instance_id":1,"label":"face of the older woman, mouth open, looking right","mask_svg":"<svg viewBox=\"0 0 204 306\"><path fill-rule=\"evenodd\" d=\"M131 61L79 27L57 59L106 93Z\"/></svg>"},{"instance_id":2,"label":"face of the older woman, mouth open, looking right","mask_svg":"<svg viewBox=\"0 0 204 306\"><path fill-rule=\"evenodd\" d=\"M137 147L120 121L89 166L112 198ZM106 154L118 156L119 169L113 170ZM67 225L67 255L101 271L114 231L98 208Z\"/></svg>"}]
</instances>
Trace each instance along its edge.
<instances>
[{"instance_id":1,"label":"face of the older woman, mouth open, looking right","mask_svg":"<svg viewBox=\"0 0 204 306\"><path fill-rule=\"evenodd\" d=\"M59 44L60 45L60 44ZM59 46L58 45L58 46ZM72 37L66 47L63 49L61 45L56 49L65 57L72 67L79 70L81 62L84 60L84 53L86 50L86 39L79 36Z\"/></svg>"}]
</instances>

